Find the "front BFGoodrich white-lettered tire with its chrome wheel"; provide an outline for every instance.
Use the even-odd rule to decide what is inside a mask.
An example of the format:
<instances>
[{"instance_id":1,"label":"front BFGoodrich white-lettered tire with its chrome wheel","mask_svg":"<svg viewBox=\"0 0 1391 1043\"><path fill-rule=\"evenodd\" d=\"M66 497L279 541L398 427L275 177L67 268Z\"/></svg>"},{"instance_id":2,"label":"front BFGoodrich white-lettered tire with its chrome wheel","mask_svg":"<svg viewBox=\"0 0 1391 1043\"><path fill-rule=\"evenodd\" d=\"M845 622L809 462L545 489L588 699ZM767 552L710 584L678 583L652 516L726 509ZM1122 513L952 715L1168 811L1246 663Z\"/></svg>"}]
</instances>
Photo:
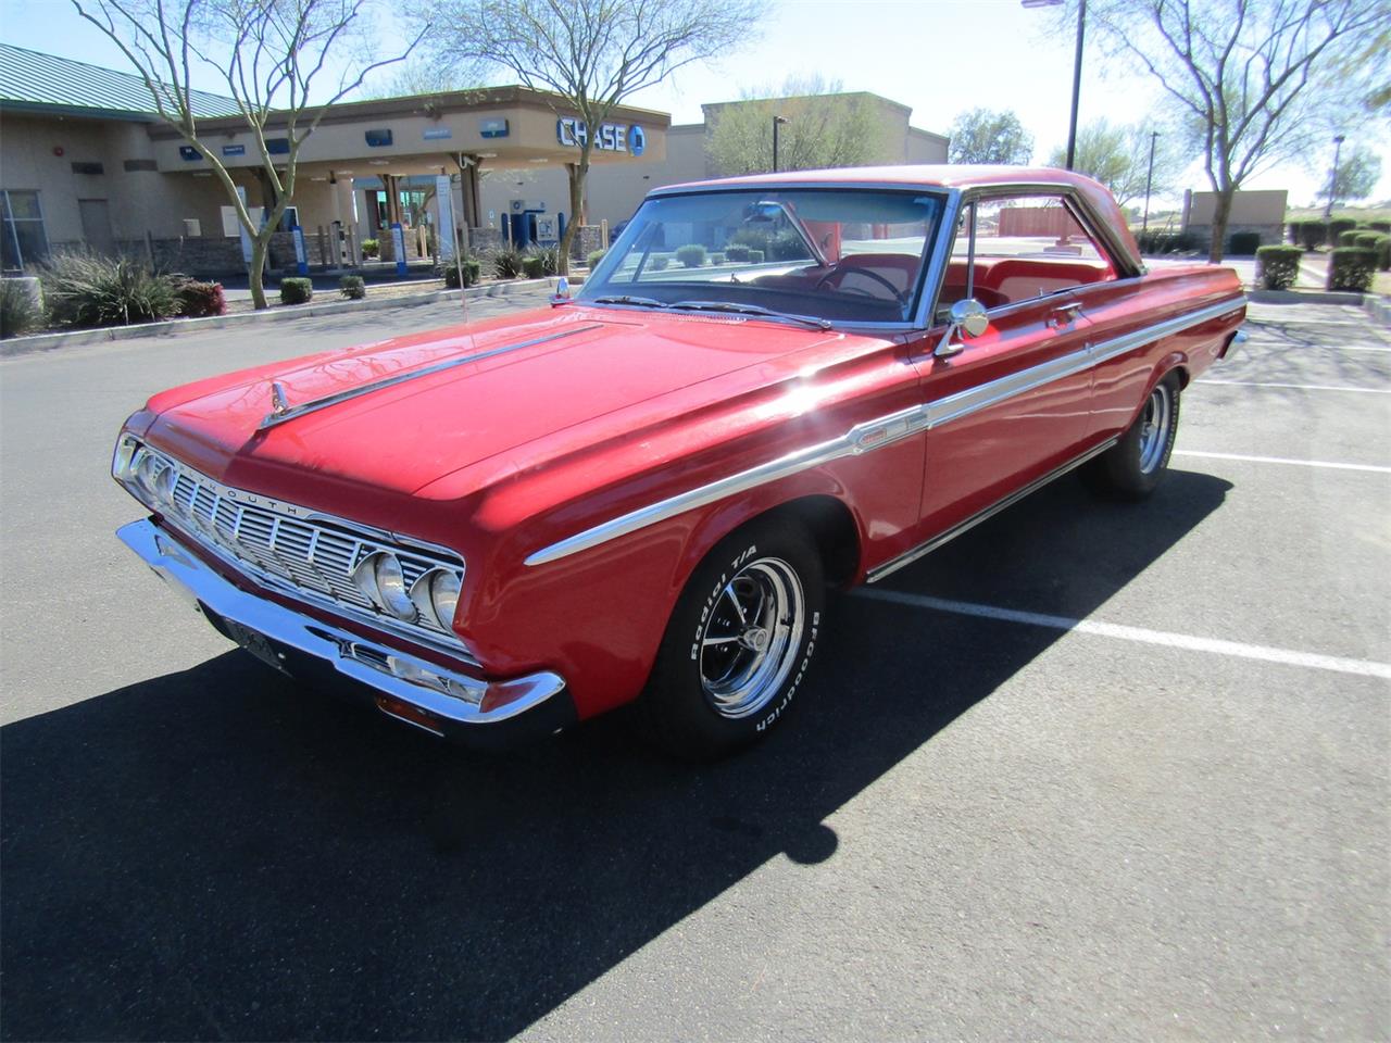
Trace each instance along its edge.
<instances>
[{"instance_id":1,"label":"front BFGoodrich white-lettered tire with its chrome wheel","mask_svg":"<svg viewBox=\"0 0 1391 1043\"><path fill-rule=\"evenodd\" d=\"M783 522L755 522L716 545L672 612L641 711L659 745L723 757L787 713L822 640L822 563Z\"/></svg>"}]
</instances>

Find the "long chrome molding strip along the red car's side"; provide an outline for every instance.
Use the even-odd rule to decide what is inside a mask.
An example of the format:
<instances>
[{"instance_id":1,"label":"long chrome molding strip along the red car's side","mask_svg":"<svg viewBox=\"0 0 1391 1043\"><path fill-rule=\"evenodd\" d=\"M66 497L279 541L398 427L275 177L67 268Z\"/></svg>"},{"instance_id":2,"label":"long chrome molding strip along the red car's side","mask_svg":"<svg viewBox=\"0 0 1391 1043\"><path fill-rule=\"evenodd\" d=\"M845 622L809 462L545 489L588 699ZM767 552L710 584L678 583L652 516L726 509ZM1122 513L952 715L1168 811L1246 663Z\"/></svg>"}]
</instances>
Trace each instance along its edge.
<instances>
[{"instance_id":1,"label":"long chrome molding strip along the red car's side","mask_svg":"<svg viewBox=\"0 0 1391 1043\"><path fill-rule=\"evenodd\" d=\"M676 515L682 515L687 510L725 499L736 492L744 492L757 485L778 481L812 467L819 467L821 464L830 463L832 460L837 460L843 456L858 456L865 452L872 452L874 449L890 445L901 438L907 438L908 435L929 431L954 420L961 420L972 413L979 413L982 409L989 409L990 406L1014 398L1015 395L1024 395L1043 387L1045 384L1052 384L1053 381L1084 373L1107 359L1114 359L1153 341L1171 337L1213 318L1228 316L1242 306L1242 300L1244 299L1235 299L1224 300L1217 305L1209 305L1198 312L1189 312L1188 314L1175 316L1174 318L1166 318L1163 323L1156 323L1155 325L1136 330L1110 341L1103 341L1102 343L1089 343L1081 350L1071 352L1039 366L1031 366L1029 369L1020 370L1018 373L1011 373L1007 377L1000 377L999 380L989 381L988 384L958 391L954 395L933 399L932 402L925 402L921 406L912 406L911 409L890 413L889 416L876 417L862 424L855 424L846 434L837 438L812 445L807 449L798 449L797 452L789 453L776 460L739 471L737 474L719 478L718 481L700 485L686 492L679 492L675 496L658 501L657 503L650 503L648 506L638 508L637 510L630 510L626 515L620 515L619 517L602 522L591 528L586 528L581 533L576 533L572 537L566 537L565 540L536 551L526 559L526 565L545 565L547 562L568 558L572 553L587 551L591 547L598 547L600 544L616 540L618 537L626 535L638 528L645 528L647 526L665 522L666 519L675 517Z\"/></svg>"}]
</instances>

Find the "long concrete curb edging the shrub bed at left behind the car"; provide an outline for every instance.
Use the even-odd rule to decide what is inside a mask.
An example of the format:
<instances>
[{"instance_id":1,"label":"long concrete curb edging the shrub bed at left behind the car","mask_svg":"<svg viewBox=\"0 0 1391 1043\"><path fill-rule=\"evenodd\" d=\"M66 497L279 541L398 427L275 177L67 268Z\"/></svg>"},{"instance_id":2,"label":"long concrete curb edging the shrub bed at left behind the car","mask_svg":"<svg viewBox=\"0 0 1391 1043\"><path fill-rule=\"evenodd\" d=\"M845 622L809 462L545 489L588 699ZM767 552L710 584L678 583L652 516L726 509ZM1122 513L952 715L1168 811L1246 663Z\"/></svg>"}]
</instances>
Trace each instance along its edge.
<instances>
[{"instance_id":1,"label":"long concrete curb edging the shrub bed at left behind the car","mask_svg":"<svg viewBox=\"0 0 1391 1043\"><path fill-rule=\"evenodd\" d=\"M541 302L555 289L555 277L541 280L515 280L510 282L490 282L481 286L469 286L465 291L469 300L481 298L510 298L536 295ZM458 300L456 289L435 289L427 293L412 293L399 298L380 298L377 300L331 300L321 305L296 305L294 307L273 307L264 312L239 312L231 316L209 316L206 318L172 318L164 323L140 323L139 325L114 325L103 330L74 330L61 334L36 334L33 337L14 337L0 341L0 357L15 355L29 355L32 352L47 352L56 348L74 348L89 343L107 343L111 341L131 341L142 337L174 337L178 334L202 332L203 330L221 330L230 325L246 325L255 323L277 323L291 318L307 318L314 316L337 316L353 312L380 312L389 307L419 307L433 305L440 300Z\"/></svg>"}]
</instances>

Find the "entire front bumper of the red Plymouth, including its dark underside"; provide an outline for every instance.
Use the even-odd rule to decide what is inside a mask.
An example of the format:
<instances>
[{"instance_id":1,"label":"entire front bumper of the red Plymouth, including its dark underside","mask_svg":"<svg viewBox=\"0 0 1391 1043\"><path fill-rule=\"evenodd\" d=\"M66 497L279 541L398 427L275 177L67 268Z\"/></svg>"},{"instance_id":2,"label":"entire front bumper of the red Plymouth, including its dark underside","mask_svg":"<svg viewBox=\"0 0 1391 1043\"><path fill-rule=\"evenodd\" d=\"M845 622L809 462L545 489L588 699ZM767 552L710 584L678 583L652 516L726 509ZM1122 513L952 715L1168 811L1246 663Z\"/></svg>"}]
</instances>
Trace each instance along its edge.
<instances>
[{"instance_id":1,"label":"entire front bumper of the red Plymouth, including its dark underside","mask_svg":"<svg viewBox=\"0 0 1391 1043\"><path fill-rule=\"evenodd\" d=\"M574 719L559 674L488 681L453 672L239 590L152 519L122 526L117 535L224 636L291 674L299 673L295 665L306 656L327 665L366 686L380 709L408 723L472 740L494 731L544 734ZM264 638L264 648L259 641L253 647L248 637ZM444 690L401 674L427 679Z\"/></svg>"}]
</instances>

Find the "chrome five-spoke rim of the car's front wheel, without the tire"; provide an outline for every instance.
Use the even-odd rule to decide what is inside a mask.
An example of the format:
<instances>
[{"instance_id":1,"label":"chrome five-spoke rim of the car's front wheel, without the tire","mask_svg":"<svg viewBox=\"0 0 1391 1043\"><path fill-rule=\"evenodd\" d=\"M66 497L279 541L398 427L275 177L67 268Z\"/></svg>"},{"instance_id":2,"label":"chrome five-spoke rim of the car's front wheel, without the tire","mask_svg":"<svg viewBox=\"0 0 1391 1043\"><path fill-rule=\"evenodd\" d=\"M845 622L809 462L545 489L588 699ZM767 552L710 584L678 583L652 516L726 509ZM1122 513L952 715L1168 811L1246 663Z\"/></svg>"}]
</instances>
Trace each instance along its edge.
<instances>
[{"instance_id":1,"label":"chrome five-spoke rim of the car's front wheel, without the tire","mask_svg":"<svg viewBox=\"0 0 1391 1043\"><path fill-rule=\"evenodd\" d=\"M744 565L725 584L701 630L705 698L723 718L757 713L797 662L807 599L797 572L780 558Z\"/></svg>"}]
</instances>

